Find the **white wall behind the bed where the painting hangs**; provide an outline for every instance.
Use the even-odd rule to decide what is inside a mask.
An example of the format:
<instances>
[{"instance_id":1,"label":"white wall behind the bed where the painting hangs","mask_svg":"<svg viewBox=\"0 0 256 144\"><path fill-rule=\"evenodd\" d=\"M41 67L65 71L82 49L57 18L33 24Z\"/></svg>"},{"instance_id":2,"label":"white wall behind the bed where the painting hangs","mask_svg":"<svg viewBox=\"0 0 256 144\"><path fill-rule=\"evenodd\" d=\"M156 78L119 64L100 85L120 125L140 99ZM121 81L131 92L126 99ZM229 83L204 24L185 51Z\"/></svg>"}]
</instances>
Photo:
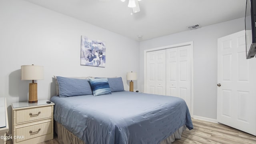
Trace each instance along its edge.
<instances>
[{"instance_id":1,"label":"white wall behind the bed where the painting hangs","mask_svg":"<svg viewBox=\"0 0 256 144\"><path fill-rule=\"evenodd\" d=\"M106 42L106 67L80 66L80 37ZM11 104L28 100L30 81L20 80L21 65L44 66L38 100L56 94L53 75L122 76L139 71L139 42L22 0L0 0L0 96ZM135 82L135 89L137 88Z\"/></svg>"}]
</instances>

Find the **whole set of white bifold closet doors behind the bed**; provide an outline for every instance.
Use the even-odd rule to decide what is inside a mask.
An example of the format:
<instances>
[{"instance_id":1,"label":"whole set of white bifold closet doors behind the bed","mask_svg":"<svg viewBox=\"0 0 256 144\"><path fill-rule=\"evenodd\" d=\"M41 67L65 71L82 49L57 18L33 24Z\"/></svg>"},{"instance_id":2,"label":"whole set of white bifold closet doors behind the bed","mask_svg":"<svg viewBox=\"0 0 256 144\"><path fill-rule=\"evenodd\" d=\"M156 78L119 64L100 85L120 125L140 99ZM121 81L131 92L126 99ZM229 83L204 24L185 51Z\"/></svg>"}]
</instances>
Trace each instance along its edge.
<instances>
[{"instance_id":1,"label":"whole set of white bifold closet doors behind the bed","mask_svg":"<svg viewBox=\"0 0 256 144\"><path fill-rule=\"evenodd\" d=\"M191 112L192 58L191 44L146 52L145 93L182 98Z\"/></svg>"}]
</instances>

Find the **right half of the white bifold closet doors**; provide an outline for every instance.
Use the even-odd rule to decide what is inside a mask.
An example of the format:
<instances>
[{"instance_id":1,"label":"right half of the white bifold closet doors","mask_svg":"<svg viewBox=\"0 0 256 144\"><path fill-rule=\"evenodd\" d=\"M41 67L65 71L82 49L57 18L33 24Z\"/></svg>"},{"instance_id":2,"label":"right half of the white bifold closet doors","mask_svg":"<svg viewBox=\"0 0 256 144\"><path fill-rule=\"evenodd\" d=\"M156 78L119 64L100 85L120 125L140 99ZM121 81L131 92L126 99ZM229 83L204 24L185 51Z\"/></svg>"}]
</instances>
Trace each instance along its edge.
<instances>
[{"instance_id":1,"label":"right half of the white bifold closet doors","mask_svg":"<svg viewBox=\"0 0 256 144\"><path fill-rule=\"evenodd\" d=\"M184 99L191 112L191 45L166 49L166 95Z\"/></svg>"}]
</instances>

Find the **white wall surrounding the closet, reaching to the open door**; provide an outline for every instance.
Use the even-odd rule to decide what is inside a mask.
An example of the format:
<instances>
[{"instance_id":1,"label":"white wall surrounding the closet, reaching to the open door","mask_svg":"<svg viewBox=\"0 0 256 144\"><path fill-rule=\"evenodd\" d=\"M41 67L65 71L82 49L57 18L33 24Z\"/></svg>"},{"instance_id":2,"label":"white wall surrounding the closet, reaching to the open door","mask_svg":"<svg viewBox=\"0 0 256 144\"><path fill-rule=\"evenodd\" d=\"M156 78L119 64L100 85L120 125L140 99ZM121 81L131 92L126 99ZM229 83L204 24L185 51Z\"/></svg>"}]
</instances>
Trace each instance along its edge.
<instances>
[{"instance_id":1,"label":"white wall surrounding the closet, reaching to the open door","mask_svg":"<svg viewBox=\"0 0 256 144\"><path fill-rule=\"evenodd\" d=\"M140 42L140 76L144 78L144 50L194 42L194 116L217 118L217 39L244 30L244 18ZM144 80L139 84L144 88Z\"/></svg>"}]
</instances>

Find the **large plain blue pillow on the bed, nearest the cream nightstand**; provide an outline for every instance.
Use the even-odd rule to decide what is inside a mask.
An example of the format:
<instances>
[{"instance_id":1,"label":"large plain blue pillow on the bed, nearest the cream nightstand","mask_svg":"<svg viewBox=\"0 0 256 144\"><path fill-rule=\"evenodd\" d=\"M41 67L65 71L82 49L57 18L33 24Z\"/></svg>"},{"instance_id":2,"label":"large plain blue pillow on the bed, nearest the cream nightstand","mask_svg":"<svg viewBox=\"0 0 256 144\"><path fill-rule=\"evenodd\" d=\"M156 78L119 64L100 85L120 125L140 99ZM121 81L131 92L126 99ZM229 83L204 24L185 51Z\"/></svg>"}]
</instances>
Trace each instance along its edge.
<instances>
[{"instance_id":1,"label":"large plain blue pillow on the bed, nearest the cream nightstand","mask_svg":"<svg viewBox=\"0 0 256 144\"><path fill-rule=\"evenodd\" d=\"M82 80L57 76L57 80L60 89L60 97L92 94L92 89L88 79Z\"/></svg>"}]
</instances>

